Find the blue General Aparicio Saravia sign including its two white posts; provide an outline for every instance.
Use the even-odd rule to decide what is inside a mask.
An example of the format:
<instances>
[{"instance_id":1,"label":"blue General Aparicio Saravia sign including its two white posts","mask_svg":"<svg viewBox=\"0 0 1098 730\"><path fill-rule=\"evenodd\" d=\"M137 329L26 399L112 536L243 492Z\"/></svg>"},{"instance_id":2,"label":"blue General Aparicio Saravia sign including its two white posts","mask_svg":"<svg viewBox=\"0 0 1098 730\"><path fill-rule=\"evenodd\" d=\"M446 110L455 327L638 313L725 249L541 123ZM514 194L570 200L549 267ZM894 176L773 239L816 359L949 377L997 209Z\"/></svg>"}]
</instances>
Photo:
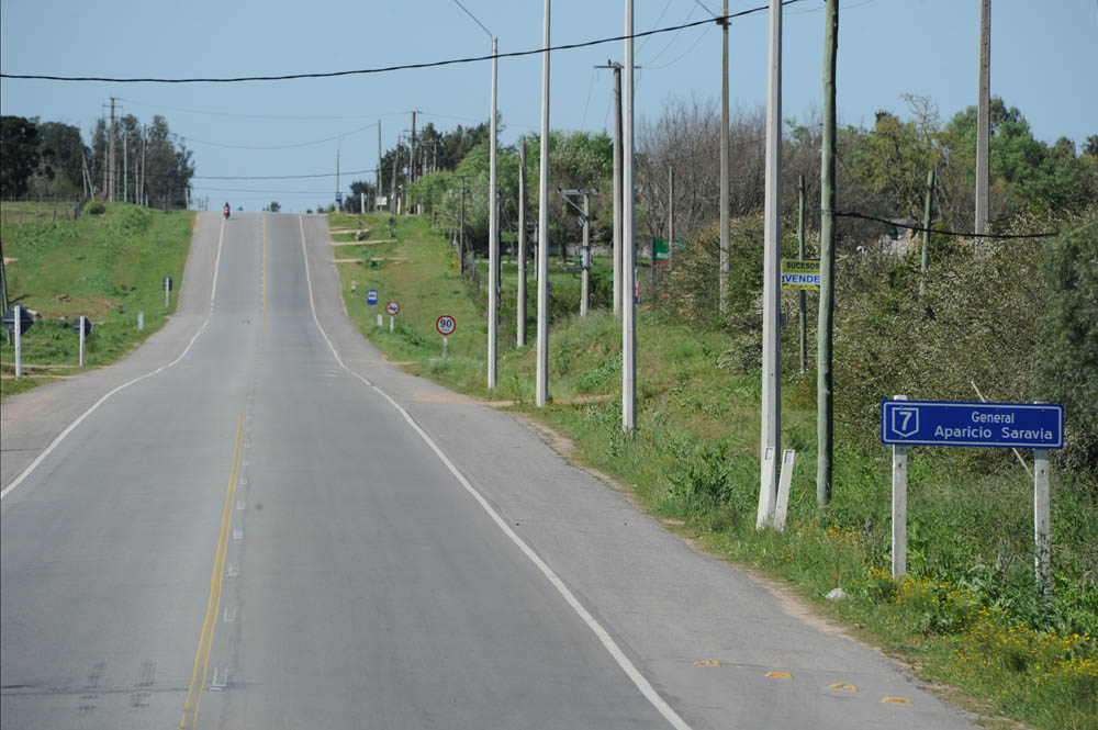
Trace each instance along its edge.
<instances>
[{"instance_id":1,"label":"blue General Aparicio Saravia sign including its two white posts","mask_svg":"<svg viewBox=\"0 0 1098 730\"><path fill-rule=\"evenodd\" d=\"M1038 584L1051 589L1049 451L1064 448L1064 406L1051 403L881 402L881 442L893 446L893 577L907 568L907 447L1033 449L1033 557Z\"/></svg>"}]
</instances>

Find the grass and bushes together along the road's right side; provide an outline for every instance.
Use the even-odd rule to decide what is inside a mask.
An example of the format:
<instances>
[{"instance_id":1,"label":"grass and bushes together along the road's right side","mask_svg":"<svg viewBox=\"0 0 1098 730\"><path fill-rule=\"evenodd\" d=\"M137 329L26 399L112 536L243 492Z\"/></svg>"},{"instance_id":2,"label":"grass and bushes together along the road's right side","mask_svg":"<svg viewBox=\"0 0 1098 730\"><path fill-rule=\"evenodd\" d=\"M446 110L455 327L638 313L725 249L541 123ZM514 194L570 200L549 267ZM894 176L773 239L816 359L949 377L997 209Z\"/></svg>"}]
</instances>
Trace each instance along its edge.
<instances>
[{"instance_id":1,"label":"grass and bushes together along the road's right side","mask_svg":"<svg viewBox=\"0 0 1098 730\"><path fill-rule=\"evenodd\" d=\"M329 221L334 231L368 229L360 234L367 242L390 237L388 215ZM574 445L571 459L630 487L671 529L788 582L993 725L1000 717L1034 728L1098 727L1098 295L1093 284L1078 285L1098 261L1094 211L1024 215L1013 224L1063 228L1053 243L935 236L921 305L916 251L897 255L882 245L840 260L834 498L828 509L816 505L816 378L811 362L799 373L794 324L783 332L782 424L783 447L798 459L783 532L754 527L761 279L733 278L737 306L713 321L704 292L716 283L707 263L716 256L714 228L684 249L654 302L641 270L638 431L629 438L620 428L621 332L608 312L608 288L592 288L604 293L581 318L574 272L551 269L551 403L538 409L533 272L527 346L515 348L516 266L503 256L498 385L489 392L483 261L478 287L459 273L455 247L427 216L400 216L394 225L399 243L335 249L349 259L338 265L348 312L390 359L550 426ZM761 246L757 225L751 217L733 225L733 268L747 267ZM608 282L608 262L595 265L594 278ZM373 307L366 303L371 288L379 291ZM377 326L390 299L401 304L392 335L388 316ZM795 295L783 308L795 315ZM458 322L446 360L435 332L441 314ZM1065 379L1065 371L1075 375ZM973 382L988 400L1041 397L1067 407L1071 445L1053 459L1055 587L1047 598L1033 577L1032 478L1009 450L910 451L909 570L901 581L890 577L890 451L877 439L879 400L978 400ZM836 587L848 597L827 602Z\"/></svg>"}]
</instances>

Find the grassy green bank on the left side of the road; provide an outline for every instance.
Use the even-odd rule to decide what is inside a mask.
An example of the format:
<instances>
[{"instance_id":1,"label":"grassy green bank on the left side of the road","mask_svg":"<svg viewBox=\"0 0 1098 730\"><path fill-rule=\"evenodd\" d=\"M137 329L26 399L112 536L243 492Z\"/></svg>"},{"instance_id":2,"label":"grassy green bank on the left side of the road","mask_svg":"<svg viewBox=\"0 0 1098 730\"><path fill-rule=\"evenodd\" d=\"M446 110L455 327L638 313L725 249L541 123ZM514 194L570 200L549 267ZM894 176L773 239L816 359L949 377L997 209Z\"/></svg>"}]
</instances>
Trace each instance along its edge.
<instances>
[{"instance_id":1,"label":"grassy green bank on the left side of the road","mask_svg":"<svg viewBox=\"0 0 1098 730\"><path fill-rule=\"evenodd\" d=\"M23 377L14 379L14 346L0 340L0 396L21 393L81 372L72 321L85 315L93 329L85 342L85 368L126 356L176 311L194 214L112 203L100 214L88 206L79 220L54 221L48 203L2 203L3 255L9 299L37 319L21 341ZM58 216L59 217L59 216ZM164 277L173 280L164 304ZM145 329L137 329L137 313Z\"/></svg>"}]
</instances>

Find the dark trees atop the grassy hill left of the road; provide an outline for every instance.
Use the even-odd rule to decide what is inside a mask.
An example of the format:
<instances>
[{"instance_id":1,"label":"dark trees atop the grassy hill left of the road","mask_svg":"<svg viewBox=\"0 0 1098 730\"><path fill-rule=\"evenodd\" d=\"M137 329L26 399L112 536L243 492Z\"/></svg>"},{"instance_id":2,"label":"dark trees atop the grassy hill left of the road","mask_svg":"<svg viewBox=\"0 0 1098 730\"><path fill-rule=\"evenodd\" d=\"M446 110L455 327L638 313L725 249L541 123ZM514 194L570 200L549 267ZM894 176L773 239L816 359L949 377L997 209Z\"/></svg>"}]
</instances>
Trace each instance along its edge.
<instances>
[{"instance_id":1,"label":"dark trees atop the grassy hill left of the road","mask_svg":"<svg viewBox=\"0 0 1098 730\"><path fill-rule=\"evenodd\" d=\"M143 124L132 114L97 121L86 143L79 127L38 117L0 117L0 196L115 200L186 207L194 162L164 116ZM112 175L113 170L113 175Z\"/></svg>"}]
</instances>

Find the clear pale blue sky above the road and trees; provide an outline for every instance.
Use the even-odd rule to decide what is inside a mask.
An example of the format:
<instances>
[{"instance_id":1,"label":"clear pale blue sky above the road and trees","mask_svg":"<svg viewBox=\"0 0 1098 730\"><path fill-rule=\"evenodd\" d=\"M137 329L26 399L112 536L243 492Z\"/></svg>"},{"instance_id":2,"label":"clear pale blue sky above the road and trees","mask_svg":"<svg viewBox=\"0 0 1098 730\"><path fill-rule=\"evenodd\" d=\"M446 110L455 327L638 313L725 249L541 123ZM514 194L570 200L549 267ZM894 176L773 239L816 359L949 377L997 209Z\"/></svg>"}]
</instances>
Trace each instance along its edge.
<instances>
[{"instance_id":1,"label":"clear pale blue sky above the road and trees","mask_svg":"<svg viewBox=\"0 0 1098 730\"><path fill-rule=\"evenodd\" d=\"M635 0L636 32L665 29L720 12L721 0ZM766 4L729 0L729 12ZM238 77L372 69L541 47L544 0L194 0L189 3L100 0L0 1L3 74L111 78ZM704 7L703 7L704 5ZM553 0L551 45L623 34L621 0ZM821 105L824 1L783 12L782 116L805 120ZM1017 106L1047 143L1082 146L1098 134L1098 0L994 0L991 93ZM732 22L733 109L765 102L768 12ZM979 0L840 0L838 112L842 124L872 126L887 110L908 115L904 94L926 96L943 120L976 103ZM638 38L636 119L654 120L670 99L720 98L720 29L715 23ZM550 126L609 128L613 74L620 41L550 54ZM244 83L116 83L0 79L0 112L79 126L121 114L165 116L193 151L193 196L211 210L224 202L284 212L327 205L340 187L372 180L382 146L426 122L448 131L489 119L491 63ZM537 132L541 58L498 64L501 144ZM279 176L303 179L244 179ZM233 180L216 178L240 178Z\"/></svg>"}]
</instances>

